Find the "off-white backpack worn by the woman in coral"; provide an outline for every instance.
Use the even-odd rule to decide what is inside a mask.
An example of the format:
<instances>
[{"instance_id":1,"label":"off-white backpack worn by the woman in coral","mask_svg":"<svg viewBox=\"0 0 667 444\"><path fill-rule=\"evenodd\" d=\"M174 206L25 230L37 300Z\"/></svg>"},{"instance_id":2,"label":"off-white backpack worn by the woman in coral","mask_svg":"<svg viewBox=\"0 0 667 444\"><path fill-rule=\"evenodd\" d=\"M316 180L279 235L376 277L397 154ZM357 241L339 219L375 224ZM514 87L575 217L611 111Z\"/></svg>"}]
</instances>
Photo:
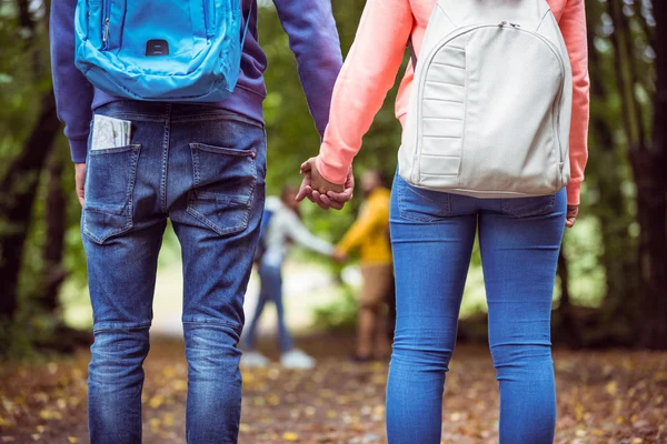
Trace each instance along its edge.
<instances>
[{"instance_id":1,"label":"off-white backpack worn by the woman in coral","mask_svg":"<svg viewBox=\"0 0 667 444\"><path fill-rule=\"evenodd\" d=\"M567 48L545 0L438 0L399 174L477 198L552 194L570 178L571 95Z\"/></svg>"}]
</instances>

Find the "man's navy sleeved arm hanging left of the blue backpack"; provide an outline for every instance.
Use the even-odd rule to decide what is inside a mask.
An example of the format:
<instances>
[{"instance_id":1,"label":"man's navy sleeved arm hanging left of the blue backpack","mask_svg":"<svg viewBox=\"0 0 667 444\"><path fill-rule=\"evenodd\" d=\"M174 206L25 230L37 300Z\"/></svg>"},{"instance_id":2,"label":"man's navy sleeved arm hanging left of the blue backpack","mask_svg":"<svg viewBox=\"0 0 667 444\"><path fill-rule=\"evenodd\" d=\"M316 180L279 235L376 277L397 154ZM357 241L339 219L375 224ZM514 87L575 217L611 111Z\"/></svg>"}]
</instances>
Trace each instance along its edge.
<instances>
[{"instance_id":1,"label":"man's navy sleeved arm hanging left of the blue backpack","mask_svg":"<svg viewBox=\"0 0 667 444\"><path fill-rule=\"evenodd\" d=\"M93 88L74 65L76 8L77 0L52 0L49 32L58 119L64 123L72 161L84 163Z\"/></svg>"}]
</instances>

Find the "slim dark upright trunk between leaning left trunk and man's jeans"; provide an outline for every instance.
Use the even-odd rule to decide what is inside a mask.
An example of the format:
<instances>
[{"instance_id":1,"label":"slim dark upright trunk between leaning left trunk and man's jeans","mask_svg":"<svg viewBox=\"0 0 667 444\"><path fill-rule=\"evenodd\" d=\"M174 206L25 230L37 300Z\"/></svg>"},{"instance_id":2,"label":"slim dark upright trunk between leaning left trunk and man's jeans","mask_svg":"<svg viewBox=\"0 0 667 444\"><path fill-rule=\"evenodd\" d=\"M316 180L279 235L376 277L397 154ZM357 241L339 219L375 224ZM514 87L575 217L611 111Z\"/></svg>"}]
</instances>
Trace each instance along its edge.
<instances>
[{"instance_id":1,"label":"slim dark upright trunk between leaning left trunk and man's jeans","mask_svg":"<svg viewBox=\"0 0 667 444\"><path fill-rule=\"evenodd\" d=\"M49 313L53 313L58 309L60 285L67 278L67 272L62 266L67 224L67 196L62 189L62 152L53 150L47 170L47 239L43 250L44 270L41 296L41 306Z\"/></svg>"}]
</instances>

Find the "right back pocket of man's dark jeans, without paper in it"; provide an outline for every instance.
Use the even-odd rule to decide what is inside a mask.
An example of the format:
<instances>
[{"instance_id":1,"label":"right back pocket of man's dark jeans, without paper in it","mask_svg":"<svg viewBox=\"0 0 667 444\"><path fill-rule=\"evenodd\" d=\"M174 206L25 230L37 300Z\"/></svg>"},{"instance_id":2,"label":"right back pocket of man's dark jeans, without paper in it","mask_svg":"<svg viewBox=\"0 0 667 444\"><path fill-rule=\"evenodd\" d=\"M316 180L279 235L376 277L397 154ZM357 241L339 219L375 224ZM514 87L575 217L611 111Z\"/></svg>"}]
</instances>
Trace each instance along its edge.
<instances>
[{"instance_id":1,"label":"right back pocket of man's dark jeans, without paper in it","mask_svg":"<svg viewBox=\"0 0 667 444\"><path fill-rule=\"evenodd\" d=\"M190 143L193 189L188 213L219 235L248 226L257 184L256 152Z\"/></svg>"}]
</instances>

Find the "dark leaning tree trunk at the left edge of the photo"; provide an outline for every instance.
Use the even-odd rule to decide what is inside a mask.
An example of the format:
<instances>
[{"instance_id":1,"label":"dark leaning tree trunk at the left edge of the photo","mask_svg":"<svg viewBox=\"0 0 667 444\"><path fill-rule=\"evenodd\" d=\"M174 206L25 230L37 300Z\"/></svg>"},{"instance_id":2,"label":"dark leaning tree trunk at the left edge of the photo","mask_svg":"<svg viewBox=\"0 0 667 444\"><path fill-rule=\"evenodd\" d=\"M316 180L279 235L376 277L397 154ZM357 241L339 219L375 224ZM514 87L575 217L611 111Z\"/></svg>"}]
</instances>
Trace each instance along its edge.
<instances>
[{"instance_id":1,"label":"dark leaning tree trunk at the left edge of the photo","mask_svg":"<svg viewBox=\"0 0 667 444\"><path fill-rule=\"evenodd\" d=\"M11 320L17 310L17 285L23 261L23 244L30 226L39 175L60 130L53 90L41 98L41 109L21 153L0 181L0 321Z\"/></svg>"}]
</instances>

